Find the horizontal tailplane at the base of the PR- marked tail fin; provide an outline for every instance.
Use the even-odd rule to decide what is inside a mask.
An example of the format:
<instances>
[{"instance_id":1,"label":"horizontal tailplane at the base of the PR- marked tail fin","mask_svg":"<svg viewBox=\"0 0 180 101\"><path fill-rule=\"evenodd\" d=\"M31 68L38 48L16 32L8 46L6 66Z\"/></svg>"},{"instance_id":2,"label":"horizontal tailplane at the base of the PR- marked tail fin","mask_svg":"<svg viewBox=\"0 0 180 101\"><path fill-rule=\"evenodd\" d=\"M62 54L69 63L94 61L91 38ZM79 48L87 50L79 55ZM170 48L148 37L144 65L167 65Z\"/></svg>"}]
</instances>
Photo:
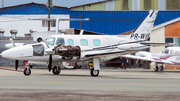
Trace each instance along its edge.
<instances>
[{"instance_id":1,"label":"horizontal tailplane at the base of the PR- marked tail fin","mask_svg":"<svg viewBox=\"0 0 180 101\"><path fill-rule=\"evenodd\" d=\"M151 46L178 46L176 43L154 43L154 42L141 42L144 45L151 45Z\"/></svg>"}]
</instances>

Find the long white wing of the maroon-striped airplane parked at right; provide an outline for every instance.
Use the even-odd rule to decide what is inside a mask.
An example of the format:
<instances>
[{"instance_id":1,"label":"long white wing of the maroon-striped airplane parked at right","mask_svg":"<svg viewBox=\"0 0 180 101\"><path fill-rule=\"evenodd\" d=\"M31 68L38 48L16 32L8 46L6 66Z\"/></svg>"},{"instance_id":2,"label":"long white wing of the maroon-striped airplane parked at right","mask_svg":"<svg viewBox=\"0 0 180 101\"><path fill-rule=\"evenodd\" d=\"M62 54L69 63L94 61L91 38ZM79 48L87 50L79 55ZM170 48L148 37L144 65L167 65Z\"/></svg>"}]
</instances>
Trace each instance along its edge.
<instances>
[{"instance_id":1,"label":"long white wing of the maroon-striped airplane parked at right","mask_svg":"<svg viewBox=\"0 0 180 101\"><path fill-rule=\"evenodd\" d=\"M162 60L160 58L155 58L155 57L141 57L141 56L135 56L135 55L122 55L121 57L144 60L144 61L151 61L151 62L158 62L158 63L165 63L165 64L173 64L170 61Z\"/></svg>"}]
</instances>

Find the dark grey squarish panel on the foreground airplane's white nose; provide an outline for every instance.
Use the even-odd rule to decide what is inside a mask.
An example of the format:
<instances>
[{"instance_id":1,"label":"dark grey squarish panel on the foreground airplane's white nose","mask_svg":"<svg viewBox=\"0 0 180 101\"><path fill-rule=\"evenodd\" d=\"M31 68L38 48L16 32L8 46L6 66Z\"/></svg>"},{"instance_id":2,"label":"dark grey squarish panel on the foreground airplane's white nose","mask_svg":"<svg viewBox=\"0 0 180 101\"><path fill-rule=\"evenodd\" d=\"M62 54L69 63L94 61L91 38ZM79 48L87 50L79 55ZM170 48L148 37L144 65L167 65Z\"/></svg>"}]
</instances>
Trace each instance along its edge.
<instances>
[{"instance_id":1,"label":"dark grey squarish panel on the foreground airplane's white nose","mask_svg":"<svg viewBox=\"0 0 180 101\"><path fill-rule=\"evenodd\" d=\"M33 47L33 56L44 55L44 46L42 44L32 45L32 47Z\"/></svg>"}]
</instances>

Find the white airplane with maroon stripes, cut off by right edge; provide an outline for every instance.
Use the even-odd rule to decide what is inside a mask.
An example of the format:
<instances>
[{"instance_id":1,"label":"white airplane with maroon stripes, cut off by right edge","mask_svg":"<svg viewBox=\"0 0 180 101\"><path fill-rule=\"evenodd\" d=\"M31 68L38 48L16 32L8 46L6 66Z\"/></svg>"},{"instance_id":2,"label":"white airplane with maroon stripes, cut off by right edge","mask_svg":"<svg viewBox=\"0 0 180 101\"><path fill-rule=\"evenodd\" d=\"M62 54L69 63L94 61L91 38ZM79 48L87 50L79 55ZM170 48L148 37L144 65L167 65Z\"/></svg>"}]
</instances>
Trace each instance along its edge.
<instances>
[{"instance_id":1,"label":"white airplane with maroon stripes, cut off by right edge","mask_svg":"<svg viewBox=\"0 0 180 101\"><path fill-rule=\"evenodd\" d=\"M180 65L180 47L167 47L157 54L140 51L135 55L123 55L122 57L155 62L154 71L163 71L163 64ZM158 68L158 64L161 64L160 68Z\"/></svg>"}]
</instances>

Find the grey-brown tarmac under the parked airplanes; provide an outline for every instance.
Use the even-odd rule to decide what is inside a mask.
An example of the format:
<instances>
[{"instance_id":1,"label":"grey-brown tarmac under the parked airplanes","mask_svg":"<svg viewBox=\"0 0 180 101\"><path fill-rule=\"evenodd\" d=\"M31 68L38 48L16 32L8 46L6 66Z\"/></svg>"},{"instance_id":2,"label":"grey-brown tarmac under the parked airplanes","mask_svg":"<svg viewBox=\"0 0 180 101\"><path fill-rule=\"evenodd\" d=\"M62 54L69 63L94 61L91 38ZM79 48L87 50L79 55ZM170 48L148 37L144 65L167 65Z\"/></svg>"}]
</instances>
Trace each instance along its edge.
<instances>
[{"instance_id":1,"label":"grey-brown tarmac under the parked airplanes","mask_svg":"<svg viewBox=\"0 0 180 101\"><path fill-rule=\"evenodd\" d=\"M62 69L54 75L33 67L0 67L0 101L179 101L180 70L154 72L139 68L103 67L98 77L87 68Z\"/></svg>"}]
</instances>

